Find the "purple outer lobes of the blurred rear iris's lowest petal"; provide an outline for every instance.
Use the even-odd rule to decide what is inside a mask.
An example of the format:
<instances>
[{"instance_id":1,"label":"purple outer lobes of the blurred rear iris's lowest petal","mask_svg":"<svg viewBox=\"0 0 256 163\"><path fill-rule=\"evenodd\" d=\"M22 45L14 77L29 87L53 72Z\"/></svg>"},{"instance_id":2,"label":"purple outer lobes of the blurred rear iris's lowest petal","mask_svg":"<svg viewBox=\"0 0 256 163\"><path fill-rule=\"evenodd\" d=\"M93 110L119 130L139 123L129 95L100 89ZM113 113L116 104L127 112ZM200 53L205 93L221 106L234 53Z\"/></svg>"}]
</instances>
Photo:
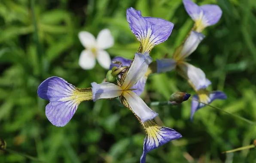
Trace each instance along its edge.
<instances>
[{"instance_id":1,"label":"purple outer lobes of the blurred rear iris's lowest petal","mask_svg":"<svg viewBox=\"0 0 256 163\"><path fill-rule=\"evenodd\" d=\"M198 109L200 109L200 108L205 106L203 103L198 103L197 101L194 101L194 100L201 100L204 103L210 104L211 102L213 102L213 100L216 100L216 99L226 100L227 99L227 95L224 92L222 92L222 91L213 91L213 92L210 92L208 94L208 98L205 99L206 101L204 101L202 99L199 99L198 95L194 95L192 97L190 119L191 120L193 119L193 115L195 114L195 112Z\"/></svg>"}]
</instances>

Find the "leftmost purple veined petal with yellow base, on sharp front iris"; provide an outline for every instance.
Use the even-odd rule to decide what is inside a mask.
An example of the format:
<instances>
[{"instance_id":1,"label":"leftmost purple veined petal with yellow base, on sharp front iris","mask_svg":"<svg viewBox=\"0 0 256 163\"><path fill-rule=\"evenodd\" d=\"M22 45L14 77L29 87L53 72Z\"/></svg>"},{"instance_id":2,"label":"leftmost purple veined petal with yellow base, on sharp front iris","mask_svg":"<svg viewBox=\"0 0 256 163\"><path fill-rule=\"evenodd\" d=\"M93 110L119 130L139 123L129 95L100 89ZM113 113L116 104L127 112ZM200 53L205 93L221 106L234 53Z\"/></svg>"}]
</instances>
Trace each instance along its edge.
<instances>
[{"instance_id":1,"label":"leftmost purple veined petal with yellow base, on sharp front iris","mask_svg":"<svg viewBox=\"0 0 256 163\"><path fill-rule=\"evenodd\" d=\"M46 117L58 127L65 126L76 112L82 101L92 100L91 88L79 89L63 78L47 78L37 90L40 98L49 100L46 106Z\"/></svg>"}]
</instances>

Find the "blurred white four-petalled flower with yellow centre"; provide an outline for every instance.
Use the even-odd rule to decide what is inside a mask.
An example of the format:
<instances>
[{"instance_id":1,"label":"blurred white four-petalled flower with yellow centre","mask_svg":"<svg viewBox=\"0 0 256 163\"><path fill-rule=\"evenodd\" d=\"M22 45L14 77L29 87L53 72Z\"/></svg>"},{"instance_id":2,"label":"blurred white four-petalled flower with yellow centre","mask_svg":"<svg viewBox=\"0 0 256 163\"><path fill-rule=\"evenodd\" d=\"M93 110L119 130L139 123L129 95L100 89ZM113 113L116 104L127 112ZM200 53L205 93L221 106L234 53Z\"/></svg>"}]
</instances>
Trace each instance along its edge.
<instances>
[{"instance_id":1,"label":"blurred white four-petalled flower with yellow centre","mask_svg":"<svg viewBox=\"0 0 256 163\"><path fill-rule=\"evenodd\" d=\"M110 48L114 45L114 38L109 29L101 30L95 37L86 31L78 33L78 37L82 45L85 47L79 57L79 66L82 69L92 69L96 64L96 58L100 65L105 69L110 68L110 55L104 49Z\"/></svg>"}]
</instances>

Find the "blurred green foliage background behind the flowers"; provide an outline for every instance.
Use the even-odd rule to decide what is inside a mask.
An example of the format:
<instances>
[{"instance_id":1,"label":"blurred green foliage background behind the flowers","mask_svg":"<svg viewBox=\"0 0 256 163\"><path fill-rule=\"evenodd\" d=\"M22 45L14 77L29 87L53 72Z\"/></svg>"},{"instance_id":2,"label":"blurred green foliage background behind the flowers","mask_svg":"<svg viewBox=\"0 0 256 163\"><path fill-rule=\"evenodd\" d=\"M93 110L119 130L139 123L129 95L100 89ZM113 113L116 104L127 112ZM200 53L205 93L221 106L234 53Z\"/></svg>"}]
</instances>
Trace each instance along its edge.
<instances>
[{"instance_id":1,"label":"blurred green foliage background behind the flowers","mask_svg":"<svg viewBox=\"0 0 256 163\"><path fill-rule=\"evenodd\" d=\"M219 23L204 30L206 38L189 57L212 82L210 90L224 91L216 100L227 112L256 121L256 3L255 0L198 0L218 4ZM83 47L79 31L97 36L109 28L115 45L111 57L132 59L139 42L126 21L128 7L143 16L175 24L169 39L151 56L169 56L193 25L182 0L1 0L0 1L0 137L7 148L46 163L138 163L145 132L134 115L117 100L80 104L65 127L53 126L45 116L48 103L37 87L59 76L79 88L100 83L107 70L99 64L83 70L78 58ZM32 10L34 8L34 11ZM37 27L34 24L37 22ZM174 71L151 75L142 95L146 103L166 101L176 91L194 95ZM148 163L256 163L256 150L230 154L222 151L252 144L256 126L209 106L190 121L191 101L178 106L151 107L166 127L183 135L147 154ZM157 122L160 120L157 119ZM18 154L0 151L0 163L36 163Z\"/></svg>"}]
</instances>

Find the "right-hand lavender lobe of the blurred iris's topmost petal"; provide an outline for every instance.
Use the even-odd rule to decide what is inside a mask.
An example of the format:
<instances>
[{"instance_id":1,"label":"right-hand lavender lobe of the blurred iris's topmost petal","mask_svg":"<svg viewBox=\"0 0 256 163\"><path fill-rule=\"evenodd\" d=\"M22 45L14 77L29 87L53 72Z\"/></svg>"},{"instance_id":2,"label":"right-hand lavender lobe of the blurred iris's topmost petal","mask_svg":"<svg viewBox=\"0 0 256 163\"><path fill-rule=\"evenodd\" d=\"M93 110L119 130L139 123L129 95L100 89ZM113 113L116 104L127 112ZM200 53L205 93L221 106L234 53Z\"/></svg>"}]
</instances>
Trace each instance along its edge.
<instances>
[{"instance_id":1,"label":"right-hand lavender lobe of the blurred iris's topmost petal","mask_svg":"<svg viewBox=\"0 0 256 163\"><path fill-rule=\"evenodd\" d=\"M222 10L218 5L203 5L200 8L204 11L201 20L204 27L216 24L222 16Z\"/></svg>"}]
</instances>

